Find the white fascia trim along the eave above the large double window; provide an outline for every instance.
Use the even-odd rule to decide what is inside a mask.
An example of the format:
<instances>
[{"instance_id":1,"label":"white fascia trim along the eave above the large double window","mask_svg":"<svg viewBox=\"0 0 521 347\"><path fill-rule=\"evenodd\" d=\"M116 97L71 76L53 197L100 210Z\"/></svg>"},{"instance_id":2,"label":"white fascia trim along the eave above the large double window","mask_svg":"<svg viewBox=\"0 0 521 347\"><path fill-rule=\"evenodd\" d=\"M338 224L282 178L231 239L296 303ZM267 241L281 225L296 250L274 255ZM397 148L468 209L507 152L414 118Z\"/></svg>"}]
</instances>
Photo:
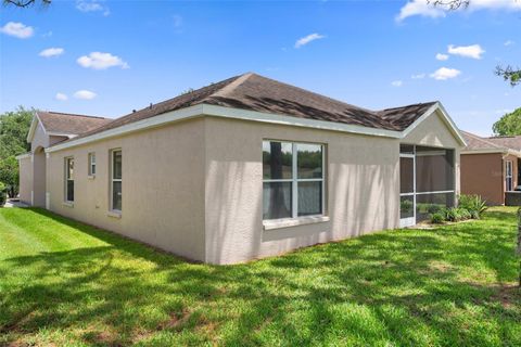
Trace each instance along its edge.
<instances>
[{"instance_id":1,"label":"white fascia trim along the eave above the large double window","mask_svg":"<svg viewBox=\"0 0 521 347\"><path fill-rule=\"evenodd\" d=\"M352 133L359 133L359 134L369 134L373 137L385 137L385 138L395 138L395 139L401 138L401 131L395 131L395 130L376 129L376 128L348 125L343 123L298 118L294 116L247 111L247 110L240 110L240 108L231 108L231 107L224 107L224 106L216 106L216 105L203 104L203 112L204 112L204 115L207 115L207 116L216 116L216 117L224 117L224 118L255 120L255 121L264 121L264 123L270 123L270 124L288 125L293 127L296 126L296 127L305 127L305 128L352 132Z\"/></svg>"}]
</instances>

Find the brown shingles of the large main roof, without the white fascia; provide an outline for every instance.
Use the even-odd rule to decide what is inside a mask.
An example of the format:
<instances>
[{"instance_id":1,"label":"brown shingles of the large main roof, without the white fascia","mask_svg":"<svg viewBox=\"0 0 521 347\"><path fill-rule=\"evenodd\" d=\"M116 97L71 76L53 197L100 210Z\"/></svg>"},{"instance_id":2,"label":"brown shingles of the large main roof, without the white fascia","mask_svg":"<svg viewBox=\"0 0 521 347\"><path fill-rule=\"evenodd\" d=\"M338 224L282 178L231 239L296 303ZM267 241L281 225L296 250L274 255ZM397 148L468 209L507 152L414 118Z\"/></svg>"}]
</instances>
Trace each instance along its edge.
<instances>
[{"instance_id":1,"label":"brown shingles of the large main roof, without the white fascia","mask_svg":"<svg viewBox=\"0 0 521 347\"><path fill-rule=\"evenodd\" d=\"M418 119L434 102L369 111L249 73L134 112L98 129L82 133L81 137L198 104L402 131Z\"/></svg>"}]
</instances>

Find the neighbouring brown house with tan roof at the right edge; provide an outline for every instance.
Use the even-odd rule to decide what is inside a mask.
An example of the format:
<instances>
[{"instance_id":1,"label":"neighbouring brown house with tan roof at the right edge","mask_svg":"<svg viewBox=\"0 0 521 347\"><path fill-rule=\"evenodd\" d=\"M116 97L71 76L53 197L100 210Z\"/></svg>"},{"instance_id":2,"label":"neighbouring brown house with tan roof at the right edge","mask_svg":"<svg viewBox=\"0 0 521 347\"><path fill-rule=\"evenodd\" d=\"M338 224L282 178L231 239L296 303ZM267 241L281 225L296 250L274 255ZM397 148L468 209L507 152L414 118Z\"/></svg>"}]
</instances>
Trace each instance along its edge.
<instances>
[{"instance_id":1,"label":"neighbouring brown house with tan roof at the right edge","mask_svg":"<svg viewBox=\"0 0 521 347\"><path fill-rule=\"evenodd\" d=\"M461 193L478 194L490 205L505 205L505 193L521 184L521 137L482 138L461 131Z\"/></svg>"}]
</instances>

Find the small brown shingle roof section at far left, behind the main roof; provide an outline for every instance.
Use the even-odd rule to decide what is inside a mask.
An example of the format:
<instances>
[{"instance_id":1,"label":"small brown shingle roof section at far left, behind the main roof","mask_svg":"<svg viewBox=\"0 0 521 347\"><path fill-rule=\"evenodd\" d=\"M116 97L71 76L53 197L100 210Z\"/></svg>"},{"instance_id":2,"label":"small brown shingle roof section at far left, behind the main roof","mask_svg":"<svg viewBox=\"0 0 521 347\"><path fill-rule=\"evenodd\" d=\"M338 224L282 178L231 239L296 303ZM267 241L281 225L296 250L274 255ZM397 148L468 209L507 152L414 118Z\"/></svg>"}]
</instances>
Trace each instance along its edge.
<instances>
[{"instance_id":1,"label":"small brown shingle roof section at far left, behind the main roof","mask_svg":"<svg viewBox=\"0 0 521 347\"><path fill-rule=\"evenodd\" d=\"M80 134L91 131L112 121L103 117L75 115L59 112L38 111L38 118L48 132L63 134Z\"/></svg>"}]
</instances>

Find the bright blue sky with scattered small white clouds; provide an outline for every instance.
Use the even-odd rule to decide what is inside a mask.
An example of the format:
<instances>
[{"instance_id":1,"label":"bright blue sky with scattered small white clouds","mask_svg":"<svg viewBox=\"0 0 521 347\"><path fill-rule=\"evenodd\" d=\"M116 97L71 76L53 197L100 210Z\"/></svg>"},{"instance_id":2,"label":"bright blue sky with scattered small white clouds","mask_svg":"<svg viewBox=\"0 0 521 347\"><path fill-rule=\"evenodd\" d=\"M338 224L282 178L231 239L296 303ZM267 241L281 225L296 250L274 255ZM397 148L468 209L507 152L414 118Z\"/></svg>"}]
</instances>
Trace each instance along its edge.
<instances>
[{"instance_id":1,"label":"bright blue sky with scattered small white clouds","mask_svg":"<svg viewBox=\"0 0 521 347\"><path fill-rule=\"evenodd\" d=\"M521 3L474 1L452 13L422 0L2 8L0 112L119 117L255 72L372 110L440 100L460 128L486 136L521 106L521 87L493 74L521 65Z\"/></svg>"}]
</instances>

